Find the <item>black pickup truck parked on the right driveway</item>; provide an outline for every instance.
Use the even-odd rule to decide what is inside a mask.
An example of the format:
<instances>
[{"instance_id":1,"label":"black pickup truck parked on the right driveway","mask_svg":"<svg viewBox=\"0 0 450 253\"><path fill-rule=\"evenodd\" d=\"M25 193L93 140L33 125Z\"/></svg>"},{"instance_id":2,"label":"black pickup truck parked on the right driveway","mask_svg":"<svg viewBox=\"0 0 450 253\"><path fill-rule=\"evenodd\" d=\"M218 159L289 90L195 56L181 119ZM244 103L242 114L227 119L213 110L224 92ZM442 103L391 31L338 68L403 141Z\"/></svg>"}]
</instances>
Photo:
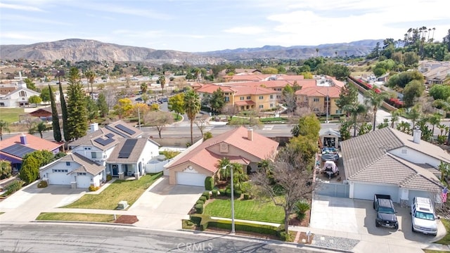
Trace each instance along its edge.
<instances>
[{"instance_id":1,"label":"black pickup truck parked on the right driveway","mask_svg":"<svg viewBox=\"0 0 450 253\"><path fill-rule=\"evenodd\" d=\"M387 228L399 228L397 221L397 211L394 209L390 195L375 194L373 196L373 209L377 212L375 226L384 226Z\"/></svg>"}]
</instances>

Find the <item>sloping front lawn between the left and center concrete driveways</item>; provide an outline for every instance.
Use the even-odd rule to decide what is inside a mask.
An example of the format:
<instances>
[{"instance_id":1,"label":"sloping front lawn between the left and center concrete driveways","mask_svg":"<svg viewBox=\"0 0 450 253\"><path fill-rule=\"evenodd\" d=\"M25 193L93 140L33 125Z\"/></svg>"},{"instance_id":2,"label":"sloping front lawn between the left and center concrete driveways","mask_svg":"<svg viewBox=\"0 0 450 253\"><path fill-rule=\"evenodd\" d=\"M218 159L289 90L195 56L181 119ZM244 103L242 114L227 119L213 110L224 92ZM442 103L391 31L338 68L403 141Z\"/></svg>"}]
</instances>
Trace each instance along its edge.
<instances>
[{"instance_id":1,"label":"sloping front lawn between the left and center concrete driveways","mask_svg":"<svg viewBox=\"0 0 450 253\"><path fill-rule=\"evenodd\" d=\"M142 193L161 175L162 172L143 176L139 180L116 180L100 194L86 194L63 208L114 210L117 207L117 203L122 200L127 201L129 205L133 205Z\"/></svg>"}]
</instances>

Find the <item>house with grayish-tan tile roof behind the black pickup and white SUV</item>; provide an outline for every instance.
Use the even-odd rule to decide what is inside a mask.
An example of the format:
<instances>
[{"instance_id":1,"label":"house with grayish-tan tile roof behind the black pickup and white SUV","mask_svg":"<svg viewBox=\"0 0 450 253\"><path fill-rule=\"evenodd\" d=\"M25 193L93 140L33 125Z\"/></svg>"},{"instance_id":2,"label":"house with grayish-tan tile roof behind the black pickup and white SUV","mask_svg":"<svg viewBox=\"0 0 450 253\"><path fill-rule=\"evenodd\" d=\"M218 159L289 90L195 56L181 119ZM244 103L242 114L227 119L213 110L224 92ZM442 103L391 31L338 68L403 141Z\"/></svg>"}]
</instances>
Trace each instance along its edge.
<instances>
[{"instance_id":1,"label":"house with grayish-tan tile roof behind the black pickup and white SUV","mask_svg":"<svg viewBox=\"0 0 450 253\"><path fill-rule=\"evenodd\" d=\"M440 162L450 162L450 154L437 145L386 127L340 143L349 183L349 197L373 200L374 194L391 195L406 207L413 197L441 202Z\"/></svg>"}]
</instances>

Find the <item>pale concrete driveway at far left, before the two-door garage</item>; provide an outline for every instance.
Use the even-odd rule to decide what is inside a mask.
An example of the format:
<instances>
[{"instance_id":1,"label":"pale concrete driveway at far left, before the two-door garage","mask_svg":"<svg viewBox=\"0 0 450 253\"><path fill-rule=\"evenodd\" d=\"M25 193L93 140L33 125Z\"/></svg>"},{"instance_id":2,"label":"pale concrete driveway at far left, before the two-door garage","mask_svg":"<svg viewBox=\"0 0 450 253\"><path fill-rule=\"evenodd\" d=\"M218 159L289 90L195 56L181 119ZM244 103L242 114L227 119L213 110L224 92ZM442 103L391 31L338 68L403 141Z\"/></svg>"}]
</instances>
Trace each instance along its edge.
<instances>
[{"instance_id":1,"label":"pale concrete driveway at far left, before the two-door garage","mask_svg":"<svg viewBox=\"0 0 450 253\"><path fill-rule=\"evenodd\" d=\"M0 222L34 221L41 212L68 205L86 193L86 189L70 186L47 186L37 188L37 181L18 190L0 202Z\"/></svg>"}]
</instances>

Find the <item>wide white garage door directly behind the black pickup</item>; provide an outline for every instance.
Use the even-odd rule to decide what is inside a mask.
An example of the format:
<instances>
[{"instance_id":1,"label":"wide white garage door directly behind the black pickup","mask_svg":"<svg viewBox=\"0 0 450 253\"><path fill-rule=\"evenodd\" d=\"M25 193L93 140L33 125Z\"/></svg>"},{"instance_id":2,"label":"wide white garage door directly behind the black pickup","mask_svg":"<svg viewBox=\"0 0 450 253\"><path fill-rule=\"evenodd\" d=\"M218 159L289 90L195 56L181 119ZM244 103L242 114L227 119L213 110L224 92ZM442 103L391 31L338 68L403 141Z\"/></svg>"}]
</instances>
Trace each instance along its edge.
<instances>
[{"instance_id":1,"label":"wide white garage door directly behind the black pickup","mask_svg":"<svg viewBox=\"0 0 450 253\"><path fill-rule=\"evenodd\" d=\"M378 186L365 183L355 183L353 197L360 200L373 200L375 194L391 195L394 202L399 202L398 186Z\"/></svg>"}]
</instances>

